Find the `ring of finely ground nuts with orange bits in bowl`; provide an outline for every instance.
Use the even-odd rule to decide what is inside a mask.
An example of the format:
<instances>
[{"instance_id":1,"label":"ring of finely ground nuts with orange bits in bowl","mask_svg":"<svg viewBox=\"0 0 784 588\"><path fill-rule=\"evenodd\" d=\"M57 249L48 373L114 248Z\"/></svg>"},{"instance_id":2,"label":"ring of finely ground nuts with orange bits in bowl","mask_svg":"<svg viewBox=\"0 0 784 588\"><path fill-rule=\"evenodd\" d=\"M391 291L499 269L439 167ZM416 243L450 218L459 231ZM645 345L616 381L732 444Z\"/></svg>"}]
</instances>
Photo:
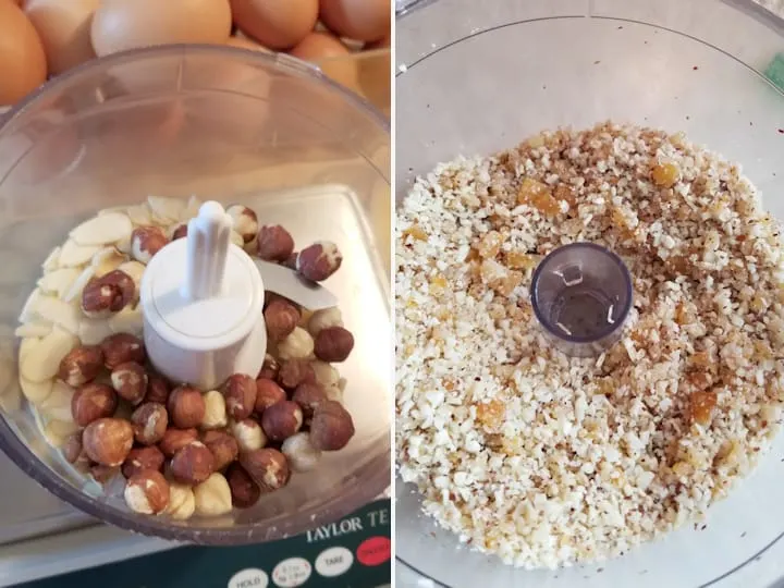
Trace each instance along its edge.
<instances>
[{"instance_id":1,"label":"ring of finely ground nuts with orange bits in bowl","mask_svg":"<svg viewBox=\"0 0 784 588\"><path fill-rule=\"evenodd\" d=\"M396 446L424 510L540 567L622 554L747 475L784 400L777 224L739 168L603 124L440 164L397 215ZM588 241L629 266L621 343L552 348L528 287Z\"/></svg>"}]
</instances>

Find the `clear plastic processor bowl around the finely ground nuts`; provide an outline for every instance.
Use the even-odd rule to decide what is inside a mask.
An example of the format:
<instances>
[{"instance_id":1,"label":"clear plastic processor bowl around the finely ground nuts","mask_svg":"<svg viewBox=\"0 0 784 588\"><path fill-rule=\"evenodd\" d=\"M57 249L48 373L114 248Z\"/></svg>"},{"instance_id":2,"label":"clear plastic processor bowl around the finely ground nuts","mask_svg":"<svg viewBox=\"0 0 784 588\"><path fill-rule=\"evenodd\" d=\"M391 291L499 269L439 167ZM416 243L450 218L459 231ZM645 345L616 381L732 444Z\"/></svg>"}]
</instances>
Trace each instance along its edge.
<instances>
[{"instance_id":1,"label":"clear plastic processor bowl around the finely ground nuts","mask_svg":"<svg viewBox=\"0 0 784 588\"><path fill-rule=\"evenodd\" d=\"M758 73L784 47L783 30L750 2L408 7L396 26L396 199L438 162L510 148L543 128L610 119L683 131L740 162L767 208L784 219L784 94ZM620 559L552 572L504 566L461 546L420 513L416 489L399 482L399 568L451 587L708 586L782 536L783 457L780 433L756 471L711 509L705 529L688 526ZM765 581L749 578L747 585Z\"/></svg>"}]
</instances>

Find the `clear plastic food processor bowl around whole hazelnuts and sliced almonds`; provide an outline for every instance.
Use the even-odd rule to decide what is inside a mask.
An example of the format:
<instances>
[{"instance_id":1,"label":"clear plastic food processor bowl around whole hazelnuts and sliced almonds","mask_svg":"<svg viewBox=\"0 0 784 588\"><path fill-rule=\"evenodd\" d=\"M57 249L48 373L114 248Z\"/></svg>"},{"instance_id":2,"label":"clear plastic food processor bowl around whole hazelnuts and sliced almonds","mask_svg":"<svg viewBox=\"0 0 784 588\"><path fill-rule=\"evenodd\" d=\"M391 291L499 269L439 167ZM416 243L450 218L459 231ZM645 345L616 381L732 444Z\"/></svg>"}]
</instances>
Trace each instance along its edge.
<instances>
[{"instance_id":1,"label":"clear plastic food processor bowl around whole hazelnuts and sliced almonds","mask_svg":"<svg viewBox=\"0 0 784 588\"><path fill-rule=\"evenodd\" d=\"M20 103L0 126L0 446L58 498L136 532L250 543L324 524L390 480L390 132L369 105L283 56L172 46L91 61ZM48 252L99 209L148 194L241 201L295 238L335 241L330 281L357 345L341 367L356 436L253 509L173 522L84 491L40 433L17 383L13 331ZM301 241L301 242L302 242Z\"/></svg>"}]
</instances>

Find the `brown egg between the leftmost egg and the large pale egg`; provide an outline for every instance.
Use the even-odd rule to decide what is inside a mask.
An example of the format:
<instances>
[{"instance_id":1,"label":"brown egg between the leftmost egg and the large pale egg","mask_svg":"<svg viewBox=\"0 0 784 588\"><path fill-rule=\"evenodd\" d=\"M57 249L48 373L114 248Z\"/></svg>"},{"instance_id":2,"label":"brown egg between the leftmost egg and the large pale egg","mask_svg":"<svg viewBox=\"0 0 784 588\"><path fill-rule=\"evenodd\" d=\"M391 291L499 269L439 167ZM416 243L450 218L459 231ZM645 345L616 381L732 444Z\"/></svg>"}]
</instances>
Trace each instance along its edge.
<instances>
[{"instance_id":1,"label":"brown egg between the leftmost egg and the large pale egg","mask_svg":"<svg viewBox=\"0 0 784 588\"><path fill-rule=\"evenodd\" d=\"M93 13L100 0L27 0L25 14L38 32L49 73L57 75L93 59Z\"/></svg>"}]
</instances>

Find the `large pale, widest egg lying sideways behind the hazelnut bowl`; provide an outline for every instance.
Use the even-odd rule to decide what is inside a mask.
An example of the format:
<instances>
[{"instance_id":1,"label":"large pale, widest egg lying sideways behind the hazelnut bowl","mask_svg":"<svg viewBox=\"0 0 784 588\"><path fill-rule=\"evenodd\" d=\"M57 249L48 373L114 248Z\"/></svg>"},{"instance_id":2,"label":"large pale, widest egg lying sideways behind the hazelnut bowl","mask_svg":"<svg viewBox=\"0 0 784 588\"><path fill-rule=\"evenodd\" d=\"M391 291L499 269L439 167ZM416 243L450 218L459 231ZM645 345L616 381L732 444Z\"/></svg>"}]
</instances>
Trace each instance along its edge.
<instances>
[{"instance_id":1,"label":"large pale, widest egg lying sideways behind the hazelnut bowl","mask_svg":"<svg viewBox=\"0 0 784 588\"><path fill-rule=\"evenodd\" d=\"M90 33L99 56L151 45L225 45L231 9L229 0L103 0Z\"/></svg>"}]
</instances>

